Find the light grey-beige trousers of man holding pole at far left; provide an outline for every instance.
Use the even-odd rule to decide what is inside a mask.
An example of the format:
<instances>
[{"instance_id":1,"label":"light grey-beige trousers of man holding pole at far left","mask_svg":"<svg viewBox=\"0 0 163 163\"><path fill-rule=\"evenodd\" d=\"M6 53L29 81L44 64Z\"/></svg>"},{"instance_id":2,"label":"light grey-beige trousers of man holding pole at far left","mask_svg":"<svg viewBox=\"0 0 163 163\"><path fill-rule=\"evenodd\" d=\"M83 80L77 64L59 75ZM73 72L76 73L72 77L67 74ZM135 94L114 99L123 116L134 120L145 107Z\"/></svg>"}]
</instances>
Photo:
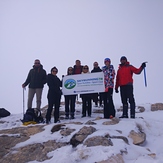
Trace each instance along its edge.
<instances>
[{"instance_id":1,"label":"light grey-beige trousers of man holding pole at far left","mask_svg":"<svg viewBox=\"0 0 163 163\"><path fill-rule=\"evenodd\" d=\"M34 95L36 94L36 108L40 110L42 91L43 91L43 88L29 88L28 102L27 102L28 109L32 108L32 101L33 101Z\"/></svg>"}]
</instances>

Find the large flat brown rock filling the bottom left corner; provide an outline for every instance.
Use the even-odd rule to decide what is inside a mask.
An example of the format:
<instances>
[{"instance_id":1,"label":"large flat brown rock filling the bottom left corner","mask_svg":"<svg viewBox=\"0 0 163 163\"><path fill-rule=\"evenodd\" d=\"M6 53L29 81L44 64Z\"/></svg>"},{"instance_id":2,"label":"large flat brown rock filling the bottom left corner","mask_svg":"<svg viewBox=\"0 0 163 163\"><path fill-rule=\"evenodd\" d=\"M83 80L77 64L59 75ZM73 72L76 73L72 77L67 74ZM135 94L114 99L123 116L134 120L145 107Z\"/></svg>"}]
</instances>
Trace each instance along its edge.
<instances>
[{"instance_id":1,"label":"large flat brown rock filling the bottom left corner","mask_svg":"<svg viewBox=\"0 0 163 163\"><path fill-rule=\"evenodd\" d=\"M18 148L16 151L10 150L6 157L1 157L2 163L26 163L29 161L44 161L50 159L47 157L47 153L54 151L57 148L67 145L67 143L55 142L50 140L44 143L36 143L27 145L25 147Z\"/></svg>"}]
</instances>

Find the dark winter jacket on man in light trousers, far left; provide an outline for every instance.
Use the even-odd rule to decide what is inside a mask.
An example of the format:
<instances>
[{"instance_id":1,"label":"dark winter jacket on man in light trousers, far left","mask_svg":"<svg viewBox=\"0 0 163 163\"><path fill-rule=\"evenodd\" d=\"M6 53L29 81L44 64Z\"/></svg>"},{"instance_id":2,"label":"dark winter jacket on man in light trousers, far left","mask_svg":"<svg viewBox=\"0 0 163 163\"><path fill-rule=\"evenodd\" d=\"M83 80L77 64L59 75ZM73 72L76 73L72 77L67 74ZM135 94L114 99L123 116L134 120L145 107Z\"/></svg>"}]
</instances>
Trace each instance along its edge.
<instances>
[{"instance_id":1,"label":"dark winter jacket on man in light trousers, far left","mask_svg":"<svg viewBox=\"0 0 163 163\"><path fill-rule=\"evenodd\" d=\"M43 88L46 83L46 71L43 69L43 66L39 67L33 66L28 73L27 79L24 82L24 86L29 84L29 88Z\"/></svg>"}]
</instances>

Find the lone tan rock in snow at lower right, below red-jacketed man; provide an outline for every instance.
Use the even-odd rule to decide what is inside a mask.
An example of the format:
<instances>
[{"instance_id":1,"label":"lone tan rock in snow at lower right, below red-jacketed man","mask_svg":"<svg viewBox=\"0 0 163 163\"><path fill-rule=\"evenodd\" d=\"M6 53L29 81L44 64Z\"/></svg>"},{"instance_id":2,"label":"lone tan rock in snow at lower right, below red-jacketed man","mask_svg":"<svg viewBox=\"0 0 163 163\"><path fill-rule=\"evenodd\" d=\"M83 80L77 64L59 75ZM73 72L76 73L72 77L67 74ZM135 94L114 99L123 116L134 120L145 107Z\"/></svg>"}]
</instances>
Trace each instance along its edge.
<instances>
[{"instance_id":1,"label":"lone tan rock in snow at lower right, below red-jacketed man","mask_svg":"<svg viewBox=\"0 0 163 163\"><path fill-rule=\"evenodd\" d=\"M132 130L128 136L133 140L133 144L140 145L143 144L146 141L146 134L144 132L135 132Z\"/></svg>"}]
</instances>

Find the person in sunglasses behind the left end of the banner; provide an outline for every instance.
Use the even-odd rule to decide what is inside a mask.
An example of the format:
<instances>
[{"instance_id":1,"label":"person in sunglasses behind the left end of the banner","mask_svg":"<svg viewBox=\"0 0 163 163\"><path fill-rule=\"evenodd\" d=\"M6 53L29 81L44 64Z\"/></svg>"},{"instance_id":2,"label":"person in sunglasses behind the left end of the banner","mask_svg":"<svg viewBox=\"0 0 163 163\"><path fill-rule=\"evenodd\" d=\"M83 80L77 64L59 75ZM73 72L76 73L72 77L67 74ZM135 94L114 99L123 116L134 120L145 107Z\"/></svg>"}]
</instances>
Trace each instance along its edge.
<instances>
[{"instance_id":1,"label":"person in sunglasses behind the left end of the banner","mask_svg":"<svg viewBox=\"0 0 163 163\"><path fill-rule=\"evenodd\" d=\"M67 69L67 75L73 75L73 67ZM74 119L76 95L65 95L65 119Z\"/></svg>"}]
</instances>

